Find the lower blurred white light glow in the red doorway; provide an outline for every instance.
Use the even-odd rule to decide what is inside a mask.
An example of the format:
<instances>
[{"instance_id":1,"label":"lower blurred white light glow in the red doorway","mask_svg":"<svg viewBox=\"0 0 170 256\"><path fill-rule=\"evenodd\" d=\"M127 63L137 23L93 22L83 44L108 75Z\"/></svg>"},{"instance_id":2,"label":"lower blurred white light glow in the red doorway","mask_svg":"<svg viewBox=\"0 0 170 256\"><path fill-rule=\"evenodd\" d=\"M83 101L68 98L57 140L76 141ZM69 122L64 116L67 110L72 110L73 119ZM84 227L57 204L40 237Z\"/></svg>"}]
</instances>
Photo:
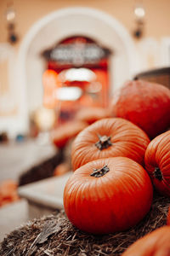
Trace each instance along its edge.
<instances>
[{"instance_id":1,"label":"lower blurred white light glow in the red doorway","mask_svg":"<svg viewBox=\"0 0 170 256\"><path fill-rule=\"evenodd\" d=\"M82 90L79 87L62 87L55 90L55 98L59 101L77 101L82 96Z\"/></svg>"}]
</instances>

